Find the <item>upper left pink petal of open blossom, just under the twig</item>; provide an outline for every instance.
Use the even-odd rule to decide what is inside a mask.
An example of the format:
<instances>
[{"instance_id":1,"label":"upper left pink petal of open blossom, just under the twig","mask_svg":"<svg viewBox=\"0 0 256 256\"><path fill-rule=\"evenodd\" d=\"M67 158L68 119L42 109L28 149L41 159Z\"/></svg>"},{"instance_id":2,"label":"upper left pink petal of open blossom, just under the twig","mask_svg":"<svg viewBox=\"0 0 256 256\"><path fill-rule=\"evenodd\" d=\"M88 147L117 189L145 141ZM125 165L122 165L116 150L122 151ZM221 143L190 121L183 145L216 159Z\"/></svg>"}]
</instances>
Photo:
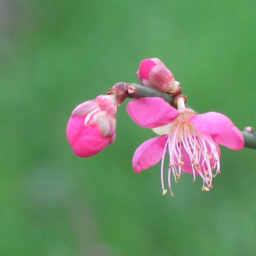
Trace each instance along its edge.
<instances>
[{"instance_id":1,"label":"upper left pink petal of open blossom, just under the twig","mask_svg":"<svg viewBox=\"0 0 256 256\"><path fill-rule=\"evenodd\" d=\"M147 128L170 124L178 116L177 109L155 97L131 100L126 110L135 123Z\"/></svg>"}]
</instances>

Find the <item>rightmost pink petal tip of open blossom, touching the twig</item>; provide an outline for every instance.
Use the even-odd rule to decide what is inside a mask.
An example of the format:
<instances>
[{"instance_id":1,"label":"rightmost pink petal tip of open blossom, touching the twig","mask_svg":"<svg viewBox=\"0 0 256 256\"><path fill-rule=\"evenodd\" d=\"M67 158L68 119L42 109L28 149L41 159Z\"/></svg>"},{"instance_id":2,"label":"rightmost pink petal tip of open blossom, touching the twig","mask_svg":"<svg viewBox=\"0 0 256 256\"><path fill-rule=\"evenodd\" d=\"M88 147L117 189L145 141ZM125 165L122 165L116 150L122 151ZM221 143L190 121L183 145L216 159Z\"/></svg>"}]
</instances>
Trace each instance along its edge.
<instances>
[{"instance_id":1,"label":"rightmost pink petal tip of open blossom, touching the twig","mask_svg":"<svg viewBox=\"0 0 256 256\"><path fill-rule=\"evenodd\" d=\"M212 138L214 141L227 148L236 150L244 148L243 135L236 126L233 126L225 133L223 132L222 134L212 135Z\"/></svg>"}]
</instances>

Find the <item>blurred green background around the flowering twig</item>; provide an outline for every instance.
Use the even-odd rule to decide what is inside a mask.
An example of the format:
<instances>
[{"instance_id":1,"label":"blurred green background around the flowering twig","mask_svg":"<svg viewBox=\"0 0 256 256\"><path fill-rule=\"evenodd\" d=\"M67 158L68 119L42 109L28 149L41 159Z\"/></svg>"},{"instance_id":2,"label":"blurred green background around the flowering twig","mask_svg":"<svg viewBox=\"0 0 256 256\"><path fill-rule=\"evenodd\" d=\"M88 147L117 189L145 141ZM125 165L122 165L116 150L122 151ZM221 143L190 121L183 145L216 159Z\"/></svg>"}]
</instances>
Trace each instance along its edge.
<instances>
[{"instance_id":1,"label":"blurred green background around the flowering twig","mask_svg":"<svg viewBox=\"0 0 256 256\"><path fill-rule=\"evenodd\" d=\"M255 126L255 1L0 1L0 255L255 255L255 150L221 147L210 192L160 164L132 170L154 137L117 113L115 143L72 154L71 111L158 57L197 112Z\"/></svg>"}]
</instances>

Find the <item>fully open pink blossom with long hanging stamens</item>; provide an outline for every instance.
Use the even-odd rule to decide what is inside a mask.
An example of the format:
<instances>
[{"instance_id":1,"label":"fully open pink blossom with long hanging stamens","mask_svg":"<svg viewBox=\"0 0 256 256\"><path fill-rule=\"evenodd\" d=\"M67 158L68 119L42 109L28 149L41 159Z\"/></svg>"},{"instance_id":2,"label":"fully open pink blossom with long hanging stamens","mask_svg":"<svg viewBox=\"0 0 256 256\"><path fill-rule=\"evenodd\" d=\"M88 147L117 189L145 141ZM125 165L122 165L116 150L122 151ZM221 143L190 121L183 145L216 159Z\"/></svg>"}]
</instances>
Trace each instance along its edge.
<instances>
[{"instance_id":1,"label":"fully open pink blossom with long hanging stamens","mask_svg":"<svg viewBox=\"0 0 256 256\"><path fill-rule=\"evenodd\" d=\"M184 105L185 106L185 105ZM217 143L231 149L244 147L242 133L231 120L220 113L200 115L185 107L178 110L161 98L131 100L127 112L137 124L152 128L158 137L142 143L136 149L132 165L135 172L147 169L162 159L161 182L164 188L164 155L169 153L168 187L171 191L171 173L174 180L183 172L200 175L203 190L212 188L212 178L220 172L220 148ZM213 170L215 173L213 174Z\"/></svg>"}]
</instances>

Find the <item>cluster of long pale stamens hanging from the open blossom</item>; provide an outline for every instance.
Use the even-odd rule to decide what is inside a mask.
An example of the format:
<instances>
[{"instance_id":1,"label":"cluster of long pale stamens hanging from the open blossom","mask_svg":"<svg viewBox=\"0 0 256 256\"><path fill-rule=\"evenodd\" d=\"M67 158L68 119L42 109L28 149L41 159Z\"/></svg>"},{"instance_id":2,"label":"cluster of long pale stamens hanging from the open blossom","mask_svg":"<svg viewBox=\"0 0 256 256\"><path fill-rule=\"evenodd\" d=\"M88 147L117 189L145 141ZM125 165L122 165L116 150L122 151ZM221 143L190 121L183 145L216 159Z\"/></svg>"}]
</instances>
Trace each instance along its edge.
<instances>
[{"instance_id":1,"label":"cluster of long pale stamens hanging from the open blossom","mask_svg":"<svg viewBox=\"0 0 256 256\"><path fill-rule=\"evenodd\" d=\"M219 148L213 141L212 137L207 134L202 134L188 122L180 122L172 125L166 143L164 145L164 153L161 162L161 183L163 188L163 195L167 193L164 189L164 155L168 147L169 153L169 168L168 168L168 187L171 191L171 173L173 174L175 183L180 178L182 166L188 164L184 162L184 156L181 151L186 151L186 160L189 159L191 163L191 170L193 172L193 180L196 180L196 175L200 175L204 184L203 191L209 191L212 188L212 178L220 171L220 157ZM184 153L183 153L184 154ZM215 174L212 170L217 170Z\"/></svg>"}]
</instances>

